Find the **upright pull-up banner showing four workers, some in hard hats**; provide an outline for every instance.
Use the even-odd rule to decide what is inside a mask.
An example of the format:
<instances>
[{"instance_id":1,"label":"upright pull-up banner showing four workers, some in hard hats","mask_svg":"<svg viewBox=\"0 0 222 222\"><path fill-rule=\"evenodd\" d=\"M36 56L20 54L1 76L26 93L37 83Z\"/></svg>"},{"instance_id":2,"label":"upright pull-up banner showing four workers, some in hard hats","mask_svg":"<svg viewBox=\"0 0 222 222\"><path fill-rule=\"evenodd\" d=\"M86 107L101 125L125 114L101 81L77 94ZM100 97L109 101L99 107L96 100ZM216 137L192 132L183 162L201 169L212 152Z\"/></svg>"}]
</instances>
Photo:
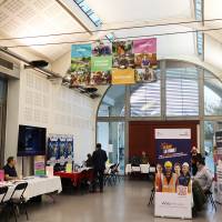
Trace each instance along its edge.
<instances>
[{"instance_id":1,"label":"upright pull-up banner showing four workers, some in hard hats","mask_svg":"<svg viewBox=\"0 0 222 222\"><path fill-rule=\"evenodd\" d=\"M155 129L155 216L191 219L191 129Z\"/></svg>"}]
</instances>

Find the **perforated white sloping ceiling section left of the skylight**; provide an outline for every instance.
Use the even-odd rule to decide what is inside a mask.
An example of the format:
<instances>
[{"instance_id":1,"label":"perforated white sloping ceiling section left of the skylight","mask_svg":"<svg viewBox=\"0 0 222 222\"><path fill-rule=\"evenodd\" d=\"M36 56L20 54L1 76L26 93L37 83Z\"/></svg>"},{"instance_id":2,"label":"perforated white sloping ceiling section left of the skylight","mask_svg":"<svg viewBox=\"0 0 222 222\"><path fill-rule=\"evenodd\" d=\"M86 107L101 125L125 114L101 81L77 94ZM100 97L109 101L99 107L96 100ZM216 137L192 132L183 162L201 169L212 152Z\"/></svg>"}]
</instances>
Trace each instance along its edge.
<instances>
[{"instance_id":1,"label":"perforated white sloping ceiling section left of the skylight","mask_svg":"<svg viewBox=\"0 0 222 222\"><path fill-rule=\"evenodd\" d=\"M84 31L82 27L54 0L7 0L0 4L0 33L3 37L33 37L50 33ZM14 41L2 41L1 46L29 46L49 42L87 40L84 36L61 36L48 38L29 38ZM11 48L13 50L13 48ZM30 47L38 54L50 61L58 59L70 44Z\"/></svg>"}]
</instances>

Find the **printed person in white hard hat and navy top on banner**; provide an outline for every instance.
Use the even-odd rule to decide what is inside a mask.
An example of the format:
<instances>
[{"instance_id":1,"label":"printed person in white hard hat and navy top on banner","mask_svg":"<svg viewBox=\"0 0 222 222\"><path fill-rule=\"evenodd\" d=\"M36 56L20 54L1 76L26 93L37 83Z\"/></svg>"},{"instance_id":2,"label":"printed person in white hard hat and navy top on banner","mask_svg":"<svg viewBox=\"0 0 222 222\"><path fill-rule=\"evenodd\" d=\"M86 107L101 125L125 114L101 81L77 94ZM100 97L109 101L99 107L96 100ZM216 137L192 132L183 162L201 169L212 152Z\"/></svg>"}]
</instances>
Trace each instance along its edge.
<instances>
[{"instance_id":1,"label":"printed person in white hard hat and navy top on banner","mask_svg":"<svg viewBox=\"0 0 222 222\"><path fill-rule=\"evenodd\" d=\"M190 165L188 162L182 164L182 172L178 178L178 185L186 186L188 193L191 193L191 174L190 174Z\"/></svg>"}]
</instances>

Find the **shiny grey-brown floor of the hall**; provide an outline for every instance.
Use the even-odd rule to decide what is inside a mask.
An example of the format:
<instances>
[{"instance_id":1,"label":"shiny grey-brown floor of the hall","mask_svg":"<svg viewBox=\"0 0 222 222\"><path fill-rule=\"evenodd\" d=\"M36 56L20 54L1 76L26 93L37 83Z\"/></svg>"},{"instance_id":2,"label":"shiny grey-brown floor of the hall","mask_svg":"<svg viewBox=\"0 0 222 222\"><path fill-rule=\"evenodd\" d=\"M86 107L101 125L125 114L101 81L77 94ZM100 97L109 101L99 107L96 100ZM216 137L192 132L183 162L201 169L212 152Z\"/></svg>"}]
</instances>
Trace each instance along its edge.
<instances>
[{"instance_id":1,"label":"shiny grey-brown floor of the hall","mask_svg":"<svg viewBox=\"0 0 222 222\"><path fill-rule=\"evenodd\" d=\"M104 193L60 194L53 204L49 198L29 209L30 222L164 222L183 221L153 216L153 206L148 206L150 183L147 181L124 181L104 189ZM214 213L199 214L196 222L221 222L222 206ZM19 221L26 221L22 215Z\"/></svg>"}]
</instances>

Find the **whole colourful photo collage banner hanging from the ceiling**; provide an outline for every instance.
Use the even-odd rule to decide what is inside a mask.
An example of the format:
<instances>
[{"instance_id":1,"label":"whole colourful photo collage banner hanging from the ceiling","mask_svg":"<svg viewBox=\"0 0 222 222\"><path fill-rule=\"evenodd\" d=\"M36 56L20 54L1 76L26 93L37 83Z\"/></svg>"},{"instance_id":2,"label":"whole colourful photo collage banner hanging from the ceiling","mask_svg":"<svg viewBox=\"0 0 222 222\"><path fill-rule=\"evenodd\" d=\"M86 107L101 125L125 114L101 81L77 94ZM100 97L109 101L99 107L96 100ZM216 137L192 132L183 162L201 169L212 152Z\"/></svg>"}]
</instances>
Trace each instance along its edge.
<instances>
[{"instance_id":1,"label":"whole colourful photo collage banner hanging from the ceiling","mask_svg":"<svg viewBox=\"0 0 222 222\"><path fill-rule=\"evenodd\" d=\"M157 64L155 38L72 44L70 87L152 82Z\"/></svg>"}]
</instances>

